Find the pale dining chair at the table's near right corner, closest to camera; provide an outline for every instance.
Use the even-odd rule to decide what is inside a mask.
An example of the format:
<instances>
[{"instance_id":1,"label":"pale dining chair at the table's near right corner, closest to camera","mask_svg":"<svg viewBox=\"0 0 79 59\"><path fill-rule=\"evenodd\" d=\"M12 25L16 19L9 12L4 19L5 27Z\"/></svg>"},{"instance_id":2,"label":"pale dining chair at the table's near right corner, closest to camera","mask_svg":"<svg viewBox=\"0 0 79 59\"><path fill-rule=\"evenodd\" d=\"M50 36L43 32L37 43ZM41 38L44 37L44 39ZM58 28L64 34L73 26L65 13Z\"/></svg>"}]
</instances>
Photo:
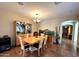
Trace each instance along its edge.
<instances>
[{"instance_id":1,"label":"pale dining chair at the table's near right corner, closest to camera","mask_svg":"<svg viewBox=\"0 0 79 59\"><path fill-rule=\"evenodd\" d=\"M30 51L31 53L34 52L34 51L38 51L38 56L40 56L40 52L41 52L41 49L42 49L42 44L43 44L43 38L39 38L39 42L38 42L38 47L32 45L30 47Z\"/></svg>"}]
</instances>

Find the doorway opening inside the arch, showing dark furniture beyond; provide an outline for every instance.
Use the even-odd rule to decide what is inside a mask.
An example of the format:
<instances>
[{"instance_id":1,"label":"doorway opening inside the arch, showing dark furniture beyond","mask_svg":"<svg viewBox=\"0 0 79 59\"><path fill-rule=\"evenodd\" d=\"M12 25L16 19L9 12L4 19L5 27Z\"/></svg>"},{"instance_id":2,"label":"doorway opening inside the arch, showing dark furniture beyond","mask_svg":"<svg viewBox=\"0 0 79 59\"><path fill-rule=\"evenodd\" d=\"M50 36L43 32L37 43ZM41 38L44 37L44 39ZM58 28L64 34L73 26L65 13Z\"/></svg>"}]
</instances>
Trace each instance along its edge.
<instances>
[{"instance_id":1,"label":"doorway opening inside the arch, showing dark furniture beyond","mask_svg":"<svg viewBox=\"0 0 79 59\"><path fill-rule=\"evenodd\" d=\"M73 25L64 25L62 26L62 46L72 50L73 45Z\"/></svg>"}]
</instances>

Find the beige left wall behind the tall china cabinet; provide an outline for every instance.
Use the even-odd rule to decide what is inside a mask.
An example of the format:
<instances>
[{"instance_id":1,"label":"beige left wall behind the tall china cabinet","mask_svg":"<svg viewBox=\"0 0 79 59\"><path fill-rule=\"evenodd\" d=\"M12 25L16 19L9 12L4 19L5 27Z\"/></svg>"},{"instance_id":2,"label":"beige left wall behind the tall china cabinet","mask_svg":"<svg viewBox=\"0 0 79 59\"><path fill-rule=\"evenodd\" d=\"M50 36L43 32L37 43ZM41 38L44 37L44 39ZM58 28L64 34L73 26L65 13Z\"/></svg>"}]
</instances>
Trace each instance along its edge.
<instances>
[{"instance_id":1,"label":"beige left wall behind the tall china cabinet","mask_svg":"<svg viewBox=\"0 0 79 59\"><path fill-rule=\"evenodd\" d=\"M36 31L35 24L26 16L8 10L0 10L0 37L3 35L9 35L11 37L12 45L15 44L14 22L16 20L32 24L32 32Z\"/></svg>"}]
</instances>

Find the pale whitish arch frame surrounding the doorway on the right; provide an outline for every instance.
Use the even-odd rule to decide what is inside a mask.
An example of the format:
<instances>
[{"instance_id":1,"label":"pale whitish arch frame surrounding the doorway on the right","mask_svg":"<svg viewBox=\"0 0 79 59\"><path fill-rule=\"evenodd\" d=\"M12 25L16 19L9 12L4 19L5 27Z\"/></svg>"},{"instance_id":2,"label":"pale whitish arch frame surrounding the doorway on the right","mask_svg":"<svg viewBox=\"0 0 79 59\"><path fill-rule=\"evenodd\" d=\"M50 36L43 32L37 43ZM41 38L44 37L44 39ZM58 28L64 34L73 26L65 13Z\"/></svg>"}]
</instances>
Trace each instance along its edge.
<instances>
[{"instance_id":1,"label":"pale whitish arch frame surrounding the doorway on the right","mask_svg":"<svg viewBox=\"0 0 79 59\"><path fill-rule=\"evenodd\" d=\"M62 39L63 39L63 26L68 26L68 25L71 25L73 26L73 29L72 29L72 40L71 40L71 43L73 45L73 47L76 49L77 47L77 40L78 40L78 21L76 20L65 20L64 22L61 23L60 25L60 40L59 40L59 43L60 43L60 46L62 46Z\"/></svg>"}]
</instances>

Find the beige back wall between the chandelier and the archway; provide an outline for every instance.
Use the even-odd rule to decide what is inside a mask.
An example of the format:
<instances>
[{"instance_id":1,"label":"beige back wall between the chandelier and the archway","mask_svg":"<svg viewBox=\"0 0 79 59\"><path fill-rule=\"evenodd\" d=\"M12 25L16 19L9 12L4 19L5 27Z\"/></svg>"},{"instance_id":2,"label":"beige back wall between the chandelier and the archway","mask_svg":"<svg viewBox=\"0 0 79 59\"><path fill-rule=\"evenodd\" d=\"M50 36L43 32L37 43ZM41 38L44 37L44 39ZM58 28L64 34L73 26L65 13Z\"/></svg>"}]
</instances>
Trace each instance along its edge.
<instances>
[{"instance_id":1,"label":"beige back wall between the chandelier and the archway","mask_svg":"<svg viewBox=\"0 0 79 59\"><path fill-rule=\"evenodd\" d=\"M49 19L49 20L43 20L40 23L40 29L44 30L44 29L49 29L51 31L55 31L56 26L59 26L61 24L61 22L63 21L62 18L60 19Z\"/></svg>"}]
</instances>

